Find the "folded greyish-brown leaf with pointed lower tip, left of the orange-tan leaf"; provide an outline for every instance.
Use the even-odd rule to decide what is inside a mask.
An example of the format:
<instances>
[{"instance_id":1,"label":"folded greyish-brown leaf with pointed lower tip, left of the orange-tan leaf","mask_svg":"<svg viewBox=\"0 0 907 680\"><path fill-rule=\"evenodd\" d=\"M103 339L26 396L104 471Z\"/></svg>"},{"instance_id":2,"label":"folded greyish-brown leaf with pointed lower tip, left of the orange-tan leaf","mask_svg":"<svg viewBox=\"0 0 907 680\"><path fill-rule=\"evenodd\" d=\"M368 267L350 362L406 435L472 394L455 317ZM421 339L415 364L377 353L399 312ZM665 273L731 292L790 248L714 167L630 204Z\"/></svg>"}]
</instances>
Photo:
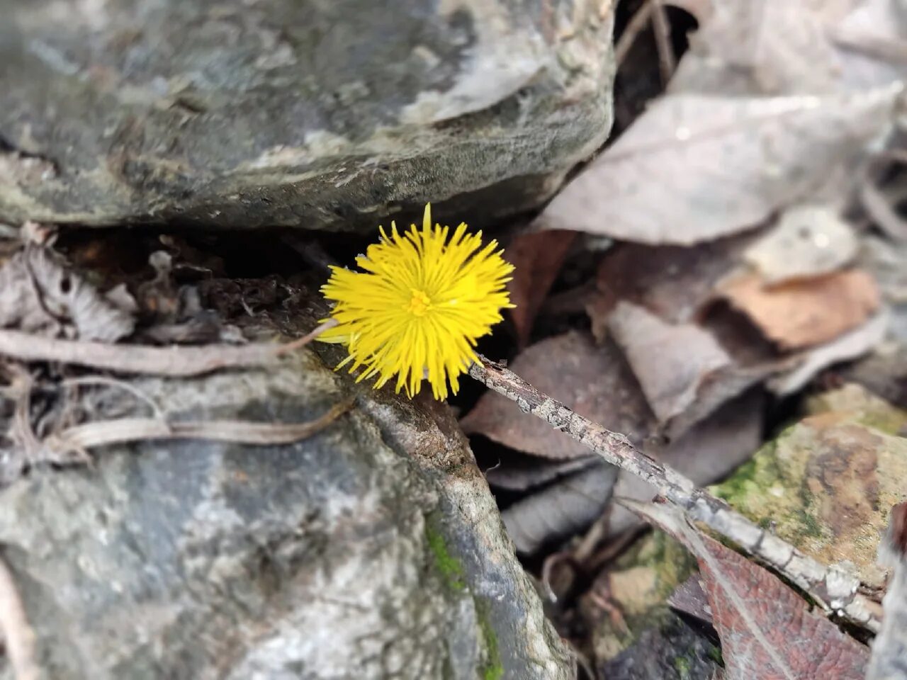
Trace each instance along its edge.
<instances>
[{"instance_id":1,"label":"folded greyish-brown leaf with pointed lower tip, left of the orange-tan leaf","mask_svg":"<svg viewBox=\"0 0 907 680\"><path fill-rule=\"evenodd\" d=\"M731 365L730 357L706 330L693 324L667 324L627 302L611 313L609 329L662 425L687 411L710 375Z\"/></svg>"}]
</instances>

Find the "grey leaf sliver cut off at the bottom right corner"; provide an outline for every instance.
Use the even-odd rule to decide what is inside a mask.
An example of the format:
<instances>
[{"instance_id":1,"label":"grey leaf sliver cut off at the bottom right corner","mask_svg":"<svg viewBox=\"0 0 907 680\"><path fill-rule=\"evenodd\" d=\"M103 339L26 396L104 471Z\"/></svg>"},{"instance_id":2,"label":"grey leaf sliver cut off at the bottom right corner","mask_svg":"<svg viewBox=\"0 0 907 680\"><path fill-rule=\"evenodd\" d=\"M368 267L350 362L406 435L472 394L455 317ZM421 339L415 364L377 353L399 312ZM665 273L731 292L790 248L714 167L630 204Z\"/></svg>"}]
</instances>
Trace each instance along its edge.
<instances>
[{"instance_id":1,"label":"grey leaf sliver cut off at the bottom right corner","mask_svg":"<svg viewBox=\"0 0 907 680\"><path fill-rule=\"evenodd\" d=\"M907 503L892 508L885 532L883 559L893 568L882 605L882 630L873 640L866 680L907 676Z\"/></svg>"}]
</instances>

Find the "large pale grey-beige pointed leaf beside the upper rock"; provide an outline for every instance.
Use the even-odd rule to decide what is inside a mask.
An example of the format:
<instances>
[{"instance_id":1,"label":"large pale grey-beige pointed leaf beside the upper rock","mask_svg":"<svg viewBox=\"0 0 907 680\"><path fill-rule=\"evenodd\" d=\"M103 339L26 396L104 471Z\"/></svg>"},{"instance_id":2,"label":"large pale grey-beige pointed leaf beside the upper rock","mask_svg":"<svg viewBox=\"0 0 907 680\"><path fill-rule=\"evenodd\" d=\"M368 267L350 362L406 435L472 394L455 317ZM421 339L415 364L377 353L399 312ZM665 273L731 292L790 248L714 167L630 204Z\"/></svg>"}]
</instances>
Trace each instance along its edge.
<instances>
[{"instance_id":1,"label":"large pale grey-beige pointed leaf beside the upper rock","mask_svg":"<svg viewBox=\"0 0 907 680\"><path fill-rule=\"evenodd\" d=\"M545 228L688 245L814 194L891 125L902 85L824 97L655 102L541 213Z\"/></svg>"}]
</instances>

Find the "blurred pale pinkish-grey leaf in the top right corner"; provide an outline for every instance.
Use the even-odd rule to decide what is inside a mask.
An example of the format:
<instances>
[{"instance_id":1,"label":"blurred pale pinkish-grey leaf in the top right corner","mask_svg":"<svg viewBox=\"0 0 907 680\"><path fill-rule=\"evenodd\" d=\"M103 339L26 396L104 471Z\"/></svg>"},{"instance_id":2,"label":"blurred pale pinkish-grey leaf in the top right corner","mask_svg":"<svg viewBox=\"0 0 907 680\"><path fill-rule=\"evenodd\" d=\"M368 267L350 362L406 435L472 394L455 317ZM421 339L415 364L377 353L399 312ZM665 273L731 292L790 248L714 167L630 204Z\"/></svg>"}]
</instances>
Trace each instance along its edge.
<instances>
[{"instance_id":1,"label":"blurred pale pinkish-grey leaf in the top right corner","mask_svg":"<svg viewBox=\"0 0 907 680\"><path fill-rule=\"evenodd\" d=\"M905 73L902 14L890 0L722 0L670 88L820 94L892 83Z\"/></svg>"}]
</instances>

